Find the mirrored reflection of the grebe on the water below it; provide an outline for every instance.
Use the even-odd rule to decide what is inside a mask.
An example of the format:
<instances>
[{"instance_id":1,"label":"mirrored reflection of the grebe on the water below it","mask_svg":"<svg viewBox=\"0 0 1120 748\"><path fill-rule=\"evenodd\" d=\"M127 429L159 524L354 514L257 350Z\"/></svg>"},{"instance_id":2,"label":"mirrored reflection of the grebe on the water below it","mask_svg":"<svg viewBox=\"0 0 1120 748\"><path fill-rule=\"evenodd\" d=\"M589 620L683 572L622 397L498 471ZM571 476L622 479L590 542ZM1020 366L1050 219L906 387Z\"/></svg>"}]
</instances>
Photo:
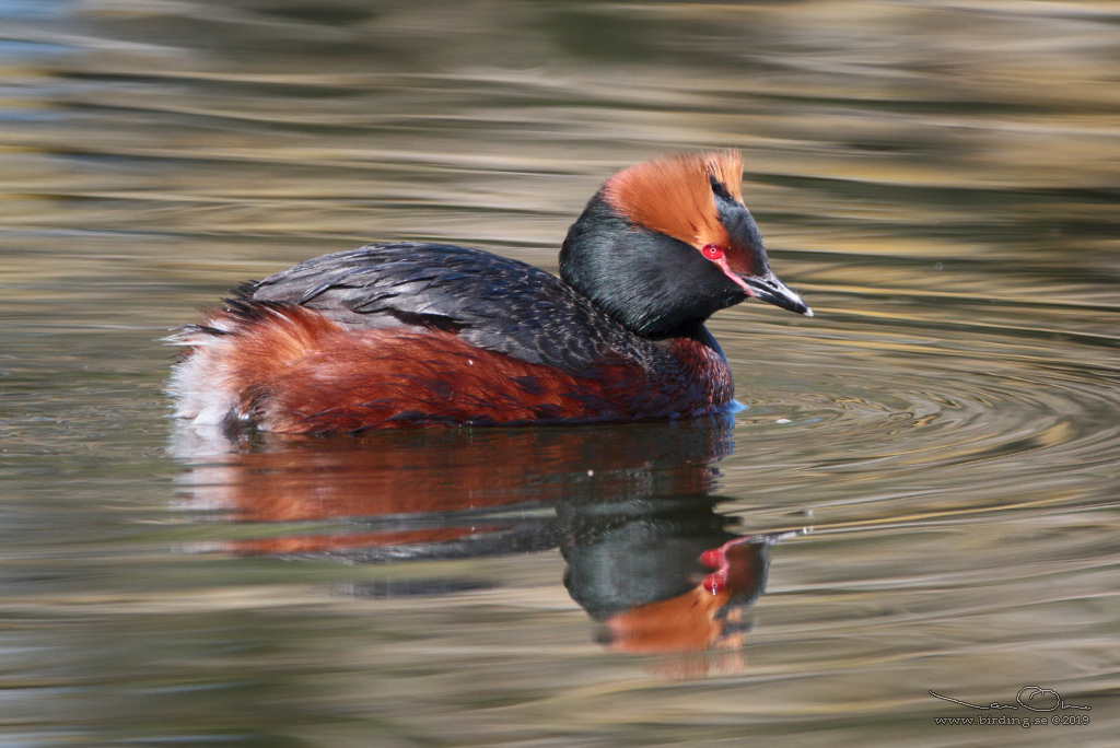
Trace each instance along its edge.
<instances>
[{"instance_id":1,"label":"mirrored reflection of the grebe on the water below it","mask_svg":"<svg viewBox=\"0 0 1120 748\"><path fill-rule=\"evenodd\" d=\"M188 508L262 531L214 550L385 563L559 548L564 586L606 647L693 655L670 674L699 675L708 658L696 655L709 651L738 664L744 609L765 588L768 546L785 536L737 535L716 512L715 464L732 450L734 421L241 441L184 427L171 450ZM426 576L363 589L478 586Z\"/></svg>"}]
</instances>

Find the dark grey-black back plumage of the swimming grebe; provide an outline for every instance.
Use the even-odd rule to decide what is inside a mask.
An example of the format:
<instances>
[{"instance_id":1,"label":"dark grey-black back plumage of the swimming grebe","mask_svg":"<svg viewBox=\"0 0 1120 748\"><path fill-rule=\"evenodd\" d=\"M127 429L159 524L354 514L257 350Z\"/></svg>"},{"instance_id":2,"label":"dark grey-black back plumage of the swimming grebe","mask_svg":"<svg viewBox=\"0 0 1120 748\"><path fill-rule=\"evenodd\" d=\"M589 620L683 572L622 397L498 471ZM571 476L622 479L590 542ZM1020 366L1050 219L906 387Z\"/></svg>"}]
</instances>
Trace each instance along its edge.
<instances>
[{"instance_id":1,"label":"dark grey-black back plumage of the swimming grebe","mask_svg":"<svg viewBox=\"0 0 1120 748\"><path fill-rule=\"evenodd\" d=\"M299 305L354 328L452 331L480 348L570 373L618 354L645 366L664 355L556 275L447 244L370 244L326 254L235 294Z\"/></svg>"}]
</instances>

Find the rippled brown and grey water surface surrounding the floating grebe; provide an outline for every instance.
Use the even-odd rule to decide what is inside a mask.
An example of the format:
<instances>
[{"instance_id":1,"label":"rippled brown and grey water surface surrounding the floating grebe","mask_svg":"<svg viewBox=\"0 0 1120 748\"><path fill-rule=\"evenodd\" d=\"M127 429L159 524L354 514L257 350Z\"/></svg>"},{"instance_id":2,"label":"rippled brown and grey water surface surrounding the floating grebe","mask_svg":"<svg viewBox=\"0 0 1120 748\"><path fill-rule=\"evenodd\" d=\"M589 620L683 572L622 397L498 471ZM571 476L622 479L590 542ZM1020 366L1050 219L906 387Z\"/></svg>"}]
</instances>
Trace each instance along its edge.
<instances>
[{"instance_id":1,"label":"rippled brown and grey water surface surrounding the floating grebe","mask_svg":"<svg viewBox=\"0 0 1120 748\"><path fill-rule=\"evenodd\" d=\"M928 691L1027 683L1093 708L1029 735L1112 741L1114 3L0 22L3 741L973 745ZM718 147L818 315L716 318L734 424L165 418L152 340L236 282L376 240L554 269L613 170Z\"/></svg>"}]
</instances>

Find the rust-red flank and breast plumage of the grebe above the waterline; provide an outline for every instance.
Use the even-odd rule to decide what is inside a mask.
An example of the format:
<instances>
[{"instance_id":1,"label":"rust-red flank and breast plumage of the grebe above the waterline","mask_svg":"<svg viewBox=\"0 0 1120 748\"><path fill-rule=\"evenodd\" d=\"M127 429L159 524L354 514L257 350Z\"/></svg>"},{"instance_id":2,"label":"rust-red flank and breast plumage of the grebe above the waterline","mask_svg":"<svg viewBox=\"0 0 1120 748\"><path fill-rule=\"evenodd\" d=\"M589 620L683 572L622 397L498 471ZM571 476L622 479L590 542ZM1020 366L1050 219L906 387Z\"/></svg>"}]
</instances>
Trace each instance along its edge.
<instances>
[{"instance_id":1,"label":"rust-red flank and breast plumage of the grebe above the waterline","mask_svg":"<svg viewBox=\"0 0 1120 748\"><path fill-rule=\"evenodd\" d=\"M211 321L228 331L184 364L207 357L195 370L212 381L187 386L225 387L235 417L268 431L673 418L731 399L722 356L691 340L666 344L653 370L619 355L572 374L449 331L355 330L302 307Z\"/></svg>"}]
</instances>

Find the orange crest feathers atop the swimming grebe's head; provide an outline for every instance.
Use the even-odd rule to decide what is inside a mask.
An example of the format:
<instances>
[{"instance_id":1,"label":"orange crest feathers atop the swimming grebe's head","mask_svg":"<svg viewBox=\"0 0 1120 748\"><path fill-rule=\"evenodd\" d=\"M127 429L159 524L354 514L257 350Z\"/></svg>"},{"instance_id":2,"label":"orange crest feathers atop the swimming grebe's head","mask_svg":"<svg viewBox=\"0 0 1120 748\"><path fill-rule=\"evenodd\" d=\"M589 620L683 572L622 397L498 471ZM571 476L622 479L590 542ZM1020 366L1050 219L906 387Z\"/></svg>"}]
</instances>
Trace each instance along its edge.
<instances>
[{"instance_id":1,"label":"orange crest feathers atop the swimming grebe's head","mask_svg":"<svg viewBox=\"0 0 1120 748\"><path fill-rule=\"evenodd\" d=\"M698 249L727 247L730 239L716 213L709 177L743 202L743 156L732 150L638 163L613 176L603 191L616 211L641 226Z\"/></svg>"}]
</instances>

